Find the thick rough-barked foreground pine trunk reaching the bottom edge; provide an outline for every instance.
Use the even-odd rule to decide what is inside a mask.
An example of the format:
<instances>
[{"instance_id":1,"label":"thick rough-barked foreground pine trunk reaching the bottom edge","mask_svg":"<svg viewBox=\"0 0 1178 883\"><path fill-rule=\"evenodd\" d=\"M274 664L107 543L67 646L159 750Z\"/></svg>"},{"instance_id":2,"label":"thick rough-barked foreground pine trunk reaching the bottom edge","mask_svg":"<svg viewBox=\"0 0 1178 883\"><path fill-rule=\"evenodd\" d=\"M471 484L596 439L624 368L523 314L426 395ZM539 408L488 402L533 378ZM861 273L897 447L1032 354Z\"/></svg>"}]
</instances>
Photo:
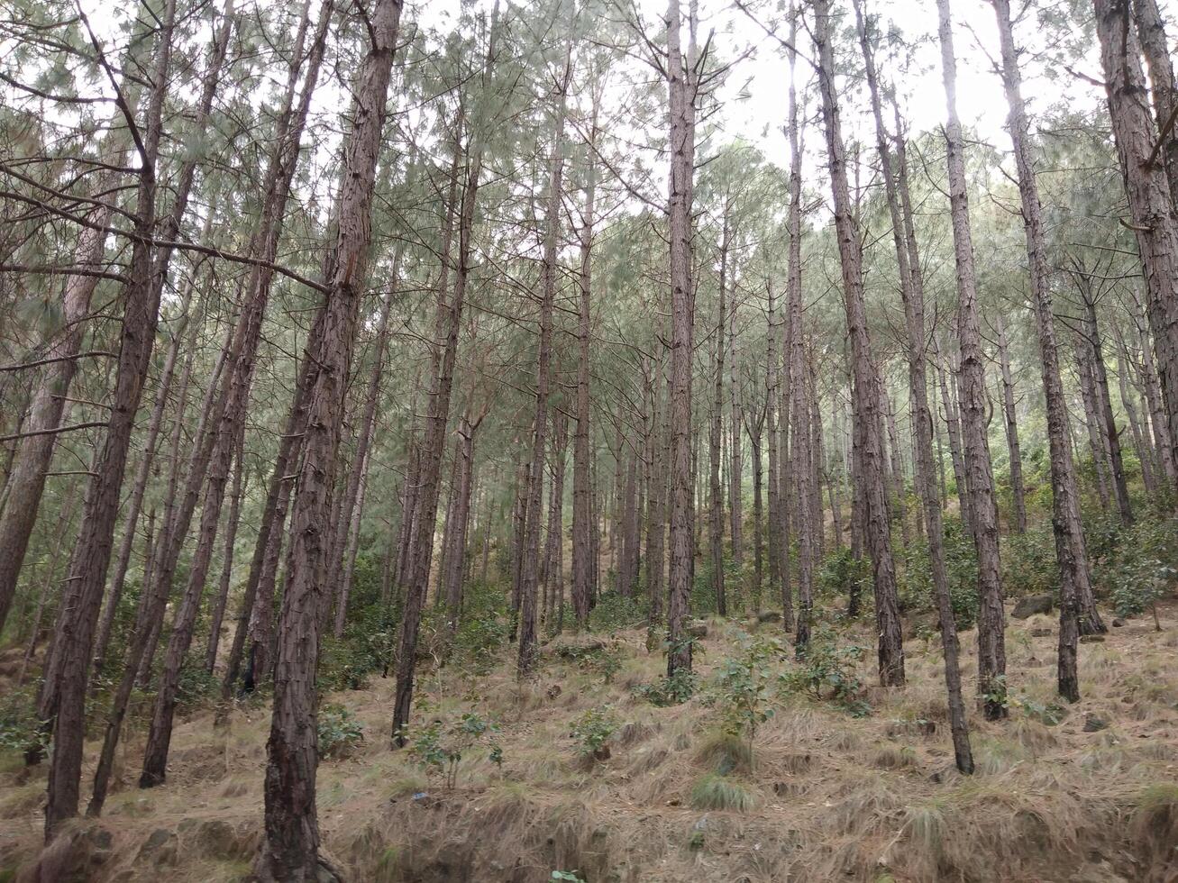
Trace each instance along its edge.
<instances>
[{"instance_id":1,"label":"thick rough-barked foreground pine trunk reaching the bottom edge","mask_svg":"<svg viewBox=\"0 0 1178 883\"><path fill-rule=\"evenodd\" d=\"M323 878L315 802L315 679L327 564L322 529L331 513L339 421L366 281L373 182L399 20L401 0L378 0L369 9L371 44L353 89L322 343L309 353L319 370L309 390L303 463L291 507L293 547L278 629L273 715L266 743L265 835L256 867L264 883Z\"/></svg>"}]
</instances>

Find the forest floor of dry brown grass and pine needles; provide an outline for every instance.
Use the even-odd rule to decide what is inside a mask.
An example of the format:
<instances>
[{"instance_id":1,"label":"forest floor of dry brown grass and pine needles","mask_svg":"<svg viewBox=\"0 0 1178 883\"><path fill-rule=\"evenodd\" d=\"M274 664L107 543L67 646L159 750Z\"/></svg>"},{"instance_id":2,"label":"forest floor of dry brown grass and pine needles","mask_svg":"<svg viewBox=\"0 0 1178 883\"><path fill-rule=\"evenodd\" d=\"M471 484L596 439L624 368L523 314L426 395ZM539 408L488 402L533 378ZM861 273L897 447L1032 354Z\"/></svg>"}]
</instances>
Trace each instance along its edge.
<instances>
[{"instance_id":1,"label":"forest floor of dry brown grass and pine needles","mask_svg":"<svg viewBox=\"0 0 1178 883\"><path fill-rule=\"evenodd\" d=\"M657 682L664 665L641 631L593 636L604 651L558 638L524 684L505 648L483 660L484 673L445 668L421 678L419 724L477 712L501 726L464 752L452 786L426 776L409 751L389 749L393 684L376 676L327 699L365 729L352 751L319 766L324 851L349 881L390 883L531 883L554 871L591 883L1174 881L1178 603L1159 612L1160 632L1146 615L1081 646L1084 699L1058 723L1057 624L1011 619L1018 699L1002 723L971 715L972 777L953 766L935 635L906 642L906 689L866 689L866 717L798 695L776 701L752 757L719 729L708 673L737 652L737 629L766 635L776 624L709 620L701 689L667 708L635 690ZM862 632L842 637L871 644ZM975 635L961 644L968 686ZM873 668L868 652L863 683ZM618 725L609 757L582 758L570 731L604 706ZM71 859L77 878L247 875L267 726L260 701L236 705L220 728L212 709L192 713L174 732L167 783L148 791L134 786L141 736L127 738L117 791L78 839L86 845ZM501 764L488 757L492 739ZM86 784L97 745L87 748ZM44 764L26 770L19 757L4 758L0 879L38 854L44 777Z\"/></svg>"}]
</instances>

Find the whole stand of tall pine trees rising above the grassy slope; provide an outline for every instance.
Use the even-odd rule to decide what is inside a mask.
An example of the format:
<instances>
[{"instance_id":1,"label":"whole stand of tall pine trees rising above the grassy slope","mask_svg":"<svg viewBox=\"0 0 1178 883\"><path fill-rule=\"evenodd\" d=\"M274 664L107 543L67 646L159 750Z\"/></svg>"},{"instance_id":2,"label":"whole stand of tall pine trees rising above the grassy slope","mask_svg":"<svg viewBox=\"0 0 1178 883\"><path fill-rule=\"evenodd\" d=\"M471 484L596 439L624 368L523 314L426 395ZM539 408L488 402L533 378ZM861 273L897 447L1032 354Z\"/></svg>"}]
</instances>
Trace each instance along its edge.
<instances>
[{"instance_id":1,"label":"whole stand of tall pine trees rising above the grassy slope","mask_svg":"<svg viewBox=\"0 0 1178 883\"><path fill-rule=\"evenodd\" d=\"M271 697L258 875L320 878L325 643L389 636L397 746L425 642L488 609L524 678L633 603L676 678L704 609L780 605L805 656L839 557L901 688L924 550L969 772L1007 543L1050 535L1078 699L1087 514L1165 518L1178 480L1178 87L1156 0L990 6L1001 142L962 121L949 0L934 34L866 0L13 0L0 636L47 839L95 738L101 812L144 691L165 782L196 679ZM787 155L726 127L754 52ZM1032 119L1025 74L1091 100Z\"/></svg>"}]
</instances>

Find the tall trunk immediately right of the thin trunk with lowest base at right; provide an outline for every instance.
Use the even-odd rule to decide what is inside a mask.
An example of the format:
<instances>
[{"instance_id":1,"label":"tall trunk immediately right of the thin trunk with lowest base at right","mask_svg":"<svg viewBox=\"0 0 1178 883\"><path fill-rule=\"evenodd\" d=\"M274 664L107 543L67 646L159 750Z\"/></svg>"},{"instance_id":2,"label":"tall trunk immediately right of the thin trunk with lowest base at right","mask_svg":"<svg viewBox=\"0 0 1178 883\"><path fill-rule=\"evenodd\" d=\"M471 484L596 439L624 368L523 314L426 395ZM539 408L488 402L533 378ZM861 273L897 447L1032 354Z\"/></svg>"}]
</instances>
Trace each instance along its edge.
<instances>
[{"instance_id":1,"label":"tall trunk immediately right of the thin trunk with lowest base at right","mask_svg":"<svg viewBox=\"0 0 1178 883\"><path fill-rule=\"evenodd\" d=\"M965 139L957 111L957 55L949 0L937 0L941 44L941 74L948 121L945 145L948 167L949 211L957 264L958 340L961 348L961 436L968 485L969 524L978 552L978 692L995 697L1006 676L1006 612L998 555L998 506L994 474L986 437L986 364L978 321L977 273L969 232L969 205L965 179ZM986 717L1006 717L1006 705L984 702Z\"/></svg>"}]
</instances>

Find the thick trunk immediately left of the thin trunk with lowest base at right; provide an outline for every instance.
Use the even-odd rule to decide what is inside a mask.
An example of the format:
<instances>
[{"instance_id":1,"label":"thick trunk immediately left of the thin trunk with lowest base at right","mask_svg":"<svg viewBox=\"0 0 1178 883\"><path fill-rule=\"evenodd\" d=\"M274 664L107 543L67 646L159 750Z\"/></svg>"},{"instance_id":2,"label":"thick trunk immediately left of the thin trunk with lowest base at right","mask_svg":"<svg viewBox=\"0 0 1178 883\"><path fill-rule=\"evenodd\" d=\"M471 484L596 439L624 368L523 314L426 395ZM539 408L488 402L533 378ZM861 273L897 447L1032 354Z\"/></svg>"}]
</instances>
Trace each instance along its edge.
<instances>
[{"instance_id":1,"label":"thick trunk immediately left of the thin trunk with lowest base at right","mask_svg":"<svg viewBox=\"0 0 1178 883\"><path fill-rule=\"evenodd\" d=\"M834 195L834 219L842 267L847 333L851 338L854 373L854 419L859 425L862 450L861 480L863 526L872 557L875 585L875 626L879 633L879 672L884 686L905 682L904 642L896 599L895 565L892 558L892 530L888 524L885 487L882 416L880 414L880 379L872 359L863 303L862 244L852 218L847 165L834 88L834 51L830 45L829 0L814 5L814 44L819 54L819 88L822 93L822 117L826 122L827 159Z\"/></svg>"}]
</instances>

